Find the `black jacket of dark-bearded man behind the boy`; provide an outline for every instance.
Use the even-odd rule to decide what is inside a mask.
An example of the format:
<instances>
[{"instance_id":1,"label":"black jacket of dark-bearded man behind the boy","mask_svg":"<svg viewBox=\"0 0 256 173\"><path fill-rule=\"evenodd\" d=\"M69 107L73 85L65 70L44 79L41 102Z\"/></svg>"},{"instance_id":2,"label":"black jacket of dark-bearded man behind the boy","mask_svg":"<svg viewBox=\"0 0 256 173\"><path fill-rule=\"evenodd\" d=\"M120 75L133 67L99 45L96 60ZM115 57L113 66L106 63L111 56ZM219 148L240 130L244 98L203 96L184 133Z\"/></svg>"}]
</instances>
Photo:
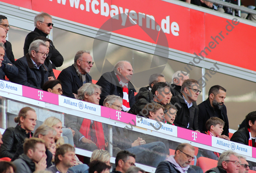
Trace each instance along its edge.
<instances>
[{"instance_id":1,"label":"black jacket of dark-bearded man behind the boy","mask_svg":"<svg viewBox=\"0 0 256 173\"><path fill-rule=\"evenodd\" d=\"M198 108L199 108L198 127L201 132L204 132L204 131L207 131L206 122L208 119L210 119L210 117L215 116L215 110L214 108L212 108L209 98L206 101L201 102L198 105ZM228 125L228 118L227 118L227 108L224 104L223 104L222 110L220 110L219 112L221 114L220 117L222 117L221 119L225 122L222 135L226 135L228 137L229 125Z\"/></svg>"}]
</instances>

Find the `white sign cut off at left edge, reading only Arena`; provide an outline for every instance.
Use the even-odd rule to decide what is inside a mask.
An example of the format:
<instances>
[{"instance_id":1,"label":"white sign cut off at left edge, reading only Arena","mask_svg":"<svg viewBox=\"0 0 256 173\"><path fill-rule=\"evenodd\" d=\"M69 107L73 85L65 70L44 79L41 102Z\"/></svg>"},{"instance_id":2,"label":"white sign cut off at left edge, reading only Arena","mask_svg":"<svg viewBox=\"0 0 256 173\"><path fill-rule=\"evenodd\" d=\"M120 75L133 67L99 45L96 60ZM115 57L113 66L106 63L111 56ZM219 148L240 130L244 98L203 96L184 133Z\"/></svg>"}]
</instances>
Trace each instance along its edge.
<instances>
[{"instance_id":1,"label":"white sign cut off at left edge, reading only Arena","mask_svg":"<svg viewBox=\"0 0 256 173\"><path fill-rule=\"evenodd\" d=\"M22 96L22 85L0 80L0 90Z\"/></svg>"}]
</instances>

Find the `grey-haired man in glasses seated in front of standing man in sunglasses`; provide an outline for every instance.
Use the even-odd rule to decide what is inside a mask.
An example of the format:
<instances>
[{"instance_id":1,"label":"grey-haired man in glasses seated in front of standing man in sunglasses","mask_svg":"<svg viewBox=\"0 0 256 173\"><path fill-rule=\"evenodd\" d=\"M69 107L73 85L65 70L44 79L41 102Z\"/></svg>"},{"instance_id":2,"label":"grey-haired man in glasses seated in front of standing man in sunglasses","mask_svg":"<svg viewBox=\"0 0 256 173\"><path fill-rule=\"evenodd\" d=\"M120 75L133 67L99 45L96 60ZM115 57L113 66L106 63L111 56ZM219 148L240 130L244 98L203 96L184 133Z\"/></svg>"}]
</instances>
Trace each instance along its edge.
<instances>
[{"instance_id":1,"label":"grey-haired man in glasses seated in front of standing man in sunglasses","mask_svg":"<svg viewBox=\"0 0 256 173\"><path fill-rule=\"evenodd\" d=\"M41 89L48 81L48 68L44 65L47 57L44 41L38 39L30 44L29 53L15 61L19 69L18 76L10 78L11 82Z\"/></svg>"}]
</instances>

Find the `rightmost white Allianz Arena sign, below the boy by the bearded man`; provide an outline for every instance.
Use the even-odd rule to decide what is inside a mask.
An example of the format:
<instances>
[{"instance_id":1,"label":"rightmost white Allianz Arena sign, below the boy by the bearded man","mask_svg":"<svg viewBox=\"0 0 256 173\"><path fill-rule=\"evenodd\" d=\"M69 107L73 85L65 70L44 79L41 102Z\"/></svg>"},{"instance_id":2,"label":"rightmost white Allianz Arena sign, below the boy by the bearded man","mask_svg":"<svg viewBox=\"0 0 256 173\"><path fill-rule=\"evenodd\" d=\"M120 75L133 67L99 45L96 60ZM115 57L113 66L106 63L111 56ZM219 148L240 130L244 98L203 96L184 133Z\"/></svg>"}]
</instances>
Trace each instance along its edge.
<instances>
[{"instance_id":1,"label":"rightmost white Allianz Arena sign, below the boy by the bearded man","mask_svg":"<svg viewBox=\"0 0 256 173\"><path fill-rule=\"evenodd\" d=\"M216 147L223 150L234 150L239 154L247 155L250 157L252 156L252 147L221 138L212 137L212 147Z\"/></svg>"}]
</instances>

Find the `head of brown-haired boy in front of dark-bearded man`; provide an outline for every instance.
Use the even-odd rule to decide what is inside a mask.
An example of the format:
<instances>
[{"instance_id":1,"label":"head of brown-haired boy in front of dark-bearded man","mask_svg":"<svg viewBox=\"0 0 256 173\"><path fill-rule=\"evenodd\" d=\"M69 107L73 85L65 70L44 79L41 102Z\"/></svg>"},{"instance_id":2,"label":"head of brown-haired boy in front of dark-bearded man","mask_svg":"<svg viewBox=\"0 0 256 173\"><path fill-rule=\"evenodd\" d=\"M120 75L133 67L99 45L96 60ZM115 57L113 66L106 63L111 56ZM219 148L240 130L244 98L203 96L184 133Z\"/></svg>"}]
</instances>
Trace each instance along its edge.
<instances>
[{"instance_id":1,"label":"head of brown-haired boy in front of dark-bearded man","mask_svg":"<svg viewBox=\"0 0 256 173\"><path fill-rule=\"evenodd\" d=\"M206 134L219 138L222 134L224 124L225 123L222 119L218 117L211 117L206 122L206 128L208 130Z\"/></svg>"}]
</instances>

